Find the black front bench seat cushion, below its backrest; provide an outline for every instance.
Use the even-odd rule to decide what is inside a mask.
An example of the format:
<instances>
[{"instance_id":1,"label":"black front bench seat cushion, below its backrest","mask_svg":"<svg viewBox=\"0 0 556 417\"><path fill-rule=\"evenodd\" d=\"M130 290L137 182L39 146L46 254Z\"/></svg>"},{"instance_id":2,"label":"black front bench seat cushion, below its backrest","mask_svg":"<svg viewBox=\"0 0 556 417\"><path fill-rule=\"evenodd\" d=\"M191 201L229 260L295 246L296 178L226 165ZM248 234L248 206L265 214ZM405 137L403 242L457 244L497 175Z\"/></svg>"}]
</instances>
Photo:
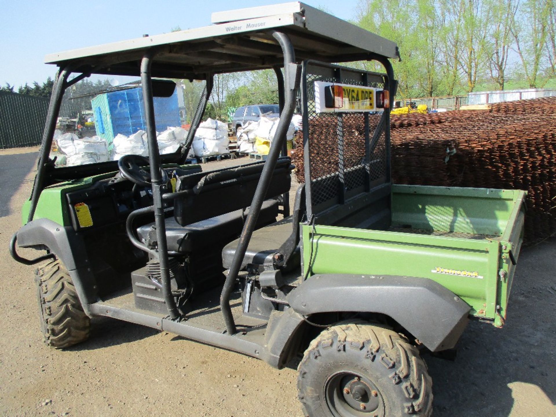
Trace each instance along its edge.
<instances>
[{"instance_id":1,"label":"black front bench seat cushion, below its backrest","mask_svg":"<svg viewBox=\"0 0 556 417\"><path fill-rule=\"evenodd\" d=\"M187 254L217 242L229 242L241 234L248 213L249 209L245 213L236 210L187 226L180 226L174 217L168 217L165 222L168 251ZM266 200L262 203L257 227L275 222L277 215L278 201ZM144 244L153 246L156 242L155 223L138 227L137 235Z\"/></svg>"}]
</instances>

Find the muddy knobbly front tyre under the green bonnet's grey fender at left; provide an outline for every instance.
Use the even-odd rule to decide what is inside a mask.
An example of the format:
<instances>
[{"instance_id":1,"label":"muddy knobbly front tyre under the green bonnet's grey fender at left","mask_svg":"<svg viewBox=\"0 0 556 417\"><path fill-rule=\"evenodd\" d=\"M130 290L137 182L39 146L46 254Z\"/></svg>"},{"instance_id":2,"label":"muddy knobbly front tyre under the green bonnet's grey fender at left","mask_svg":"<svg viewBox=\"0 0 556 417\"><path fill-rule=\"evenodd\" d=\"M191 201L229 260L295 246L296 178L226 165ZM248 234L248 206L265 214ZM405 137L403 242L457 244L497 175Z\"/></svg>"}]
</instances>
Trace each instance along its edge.
<instances>
[{"instance_id":1,"label":"muddy knobbly front tyre under the green bonnet's grey fender at left","mask_svg":"<svg viewBox=\"0 0 556 417\"><path fill-rule=\"evenodd\" d=\"M62 349L87 340L90 320L62 262L56 259L38 267L35 282L44 343Z\"/></svg>"}]
</instances>

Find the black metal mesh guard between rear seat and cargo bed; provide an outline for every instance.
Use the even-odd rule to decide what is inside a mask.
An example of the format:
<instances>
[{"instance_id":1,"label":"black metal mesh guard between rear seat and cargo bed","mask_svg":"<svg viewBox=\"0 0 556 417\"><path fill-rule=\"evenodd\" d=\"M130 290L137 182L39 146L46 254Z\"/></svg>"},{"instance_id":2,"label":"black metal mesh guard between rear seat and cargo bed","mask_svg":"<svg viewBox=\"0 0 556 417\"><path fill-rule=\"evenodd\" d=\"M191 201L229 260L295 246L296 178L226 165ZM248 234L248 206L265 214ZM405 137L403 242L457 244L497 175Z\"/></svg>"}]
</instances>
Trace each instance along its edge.
<instances>
[{"instance_id":1,"label":"black metal mesh guard between rear seat and cargo bed","mask_svg":"<svg viewBox=\"0 0 556 417\"><path fill-rule=\"evenodd\" d=\"M373 203L383 212L378 222L390 223L390 128L389 112L318 113L315 81L388 88L384 74L359 71L315 61L303 63L301 103L303 130L297 133L294 163L299 182L305 182L307 217L318 224L336 223L332 212L346 202L379 196ZM345 211L345 210L344 210ZM366 212L366 218L373 216ZM376 224L376 226L378 226ZM351 226L360 225L358 222ZM367 225L369 227L371 225Z\"/></svg>"}]
</instances>

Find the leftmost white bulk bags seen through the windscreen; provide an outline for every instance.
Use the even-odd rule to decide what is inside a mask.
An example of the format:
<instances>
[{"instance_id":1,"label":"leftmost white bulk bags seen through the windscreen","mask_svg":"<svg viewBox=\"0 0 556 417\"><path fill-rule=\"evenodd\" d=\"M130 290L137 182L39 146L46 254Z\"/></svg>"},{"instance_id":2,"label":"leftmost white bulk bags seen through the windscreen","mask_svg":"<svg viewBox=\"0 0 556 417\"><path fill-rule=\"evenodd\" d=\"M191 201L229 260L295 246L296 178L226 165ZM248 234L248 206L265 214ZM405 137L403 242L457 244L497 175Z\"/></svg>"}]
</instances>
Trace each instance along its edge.
<instances>
[{"instance_id":1,"label":"leftmost white bulk bags seen through the windscreen","mask_svg":"<svg viewBox=\"0 0 556 417\"><path fill-rule=\"evenodd\" d=\"M79 138L75 133L64 133L56 138L58 150L66 154L66 165L105 162L110 158L108 144L99 136Z\"/></svg>"}]
</instances>

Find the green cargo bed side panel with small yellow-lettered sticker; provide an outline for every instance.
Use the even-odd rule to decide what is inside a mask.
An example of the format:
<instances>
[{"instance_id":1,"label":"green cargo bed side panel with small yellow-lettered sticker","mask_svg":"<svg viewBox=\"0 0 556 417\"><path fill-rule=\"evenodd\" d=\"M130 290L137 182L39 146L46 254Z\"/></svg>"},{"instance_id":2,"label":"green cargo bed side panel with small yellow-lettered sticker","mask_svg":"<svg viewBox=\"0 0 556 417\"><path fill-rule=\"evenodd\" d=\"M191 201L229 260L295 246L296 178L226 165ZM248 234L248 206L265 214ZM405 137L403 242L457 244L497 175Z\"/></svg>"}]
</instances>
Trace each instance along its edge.
<instances>
[{"instance_id":1,"label":"green cargo bed side panel with small yellow-lettered sticker","mask_svg":"<svg viewBox=\"0 0 556 417\"><path fill-rule=\"evenodd\" d=\"M310 231L310 227L304 227L304 242L311 241ZM464 240L463 243L471 245L459 245L462 242L454 238L404 235L315 226L314 254L311 261L307 256L304 265L311 265L311 275L341 273L429 278L460 296L471 306L472 314L479 312L494 318L498 242L480 241L479 244ZM405 237L417 239L406 240ZM306 250L305 255L309 255ZM451 270L468 276L455 275L455 272L453 275Z\"/></svg>"}]
</instances>

